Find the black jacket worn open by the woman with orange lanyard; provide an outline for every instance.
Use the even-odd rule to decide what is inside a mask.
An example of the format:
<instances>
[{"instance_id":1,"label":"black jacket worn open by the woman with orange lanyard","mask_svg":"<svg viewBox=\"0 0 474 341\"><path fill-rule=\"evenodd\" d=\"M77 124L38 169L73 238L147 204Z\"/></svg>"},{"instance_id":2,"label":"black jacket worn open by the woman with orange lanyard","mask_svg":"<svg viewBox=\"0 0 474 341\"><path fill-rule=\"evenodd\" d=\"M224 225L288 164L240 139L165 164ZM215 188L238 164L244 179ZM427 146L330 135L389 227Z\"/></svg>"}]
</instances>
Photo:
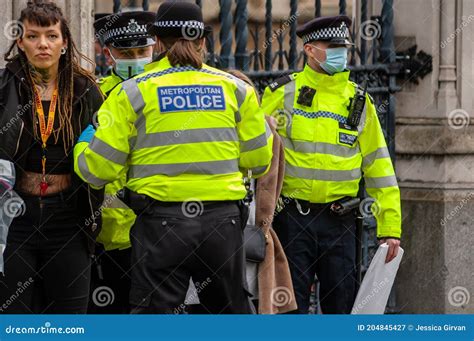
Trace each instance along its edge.
<instances>
[{"instance_id":1,"label":"black jacket worn open by the woman with orange lanyard","mask_svg":"<svg viewBox=\"0 0 474 341\"><path fill-rule=\"evenodd\" d=\"M76 77L73 84L74 134L76 139L87 125L92 123L103 98L100 90L85 77ZM19 60L0 69L0 159L13 162L19 169L25 168L27 150L33 143L34 97L28 87L26 75ZM71 151L72 153L72 151ZM73 189L76 193L80 226L88 236L89 249L93 252L95 237L100 231L100 206L103 190L94 190L84 183L71 169ZM83 220L83 221L82 221Z\"/></svg>"}]
</instances>

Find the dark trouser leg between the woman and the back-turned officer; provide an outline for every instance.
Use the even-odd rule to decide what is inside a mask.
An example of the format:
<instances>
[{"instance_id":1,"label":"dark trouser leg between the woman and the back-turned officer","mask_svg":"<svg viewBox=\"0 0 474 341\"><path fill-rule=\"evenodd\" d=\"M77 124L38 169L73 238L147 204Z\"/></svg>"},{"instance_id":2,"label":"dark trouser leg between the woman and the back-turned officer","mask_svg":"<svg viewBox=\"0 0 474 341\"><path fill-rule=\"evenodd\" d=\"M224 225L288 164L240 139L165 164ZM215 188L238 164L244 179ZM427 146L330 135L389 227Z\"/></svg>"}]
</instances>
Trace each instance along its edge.
<instances>
[{"instance_id":1,"label":"dark trouser leg between the woman and the back-turned officer","mask_svg":"<svg viewBox=\"0 0 474 341\"><path fill-rule=\"evenodd\" d=\"M131 248L105 251L96 248L96 260L92 265L91 297L88 313L129 314Z\"/></svg>"}]
</instances>

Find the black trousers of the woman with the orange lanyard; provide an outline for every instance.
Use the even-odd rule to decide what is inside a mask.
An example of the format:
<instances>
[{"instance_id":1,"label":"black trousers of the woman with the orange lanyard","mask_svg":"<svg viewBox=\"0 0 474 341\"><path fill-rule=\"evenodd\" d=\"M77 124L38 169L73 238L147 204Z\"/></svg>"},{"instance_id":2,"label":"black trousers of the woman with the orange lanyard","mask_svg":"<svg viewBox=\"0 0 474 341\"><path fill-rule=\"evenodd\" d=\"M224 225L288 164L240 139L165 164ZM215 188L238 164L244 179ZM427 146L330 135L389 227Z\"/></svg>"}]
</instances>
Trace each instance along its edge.
<instances>
[{"instance_id":1,"label":"black trousers of the woman with the orange lanyard","mask_svg":"<svg viewBox=\"0 0 474 341\"><path fill-rule=\"evenodd\" d=\"M74 196L67 196L42 205L22 196L24 214L10 226L0 275L1 313L86 313L90 257Z\"/></svg>"}]
</instances>

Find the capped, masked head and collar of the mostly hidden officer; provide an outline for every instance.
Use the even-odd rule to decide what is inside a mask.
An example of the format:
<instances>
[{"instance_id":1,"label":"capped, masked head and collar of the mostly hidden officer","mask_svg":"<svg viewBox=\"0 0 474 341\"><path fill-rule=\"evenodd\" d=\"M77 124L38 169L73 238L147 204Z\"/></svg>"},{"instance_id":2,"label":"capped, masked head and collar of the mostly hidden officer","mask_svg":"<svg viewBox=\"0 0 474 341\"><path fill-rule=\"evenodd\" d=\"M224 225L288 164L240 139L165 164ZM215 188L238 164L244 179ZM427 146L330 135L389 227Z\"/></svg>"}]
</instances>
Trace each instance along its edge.
<instances>
[{"instance_id":1,"label":"capped, masked head and collar of the mostly hidden officer","mask_svg":"<svg viewBox=\"0 0 474 341\"><path fill-rule=\"evenodd\" d=\"M112 65L111 74L99 81L106 96L117 84L142 73L152 61L155 39L147 25L154 19L153 12L134 11L110 14L94 22L96 37Z\"/></svg>"}]
</instances>

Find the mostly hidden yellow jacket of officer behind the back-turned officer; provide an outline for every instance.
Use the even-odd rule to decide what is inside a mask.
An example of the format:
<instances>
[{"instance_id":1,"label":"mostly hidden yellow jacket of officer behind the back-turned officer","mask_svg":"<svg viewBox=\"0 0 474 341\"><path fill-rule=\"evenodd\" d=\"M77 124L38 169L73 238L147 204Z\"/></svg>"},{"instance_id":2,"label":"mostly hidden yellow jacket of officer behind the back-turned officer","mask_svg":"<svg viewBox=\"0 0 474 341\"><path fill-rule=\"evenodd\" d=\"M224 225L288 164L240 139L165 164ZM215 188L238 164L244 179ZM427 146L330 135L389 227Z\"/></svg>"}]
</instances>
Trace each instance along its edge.
<instances>
[{"instance_id":1,"label":"mostly hidden yellow jacket of officer behind the back-turned officer","mask_svg":"<svg viewBox=\"0 0 474 341\"><path fill-rule=\"evenodd\" d=\"M99 80L100 90L108 95L121 82L122 78L112 71L111 75ZM104 245L106 251L123 250L131 246L130 229L135 223L136 215L117 197L118 191L124 188L126 180L124 173L119 179L105 186L102 229L97 236L97 242Z\"/></svg>"}]
</instances>

